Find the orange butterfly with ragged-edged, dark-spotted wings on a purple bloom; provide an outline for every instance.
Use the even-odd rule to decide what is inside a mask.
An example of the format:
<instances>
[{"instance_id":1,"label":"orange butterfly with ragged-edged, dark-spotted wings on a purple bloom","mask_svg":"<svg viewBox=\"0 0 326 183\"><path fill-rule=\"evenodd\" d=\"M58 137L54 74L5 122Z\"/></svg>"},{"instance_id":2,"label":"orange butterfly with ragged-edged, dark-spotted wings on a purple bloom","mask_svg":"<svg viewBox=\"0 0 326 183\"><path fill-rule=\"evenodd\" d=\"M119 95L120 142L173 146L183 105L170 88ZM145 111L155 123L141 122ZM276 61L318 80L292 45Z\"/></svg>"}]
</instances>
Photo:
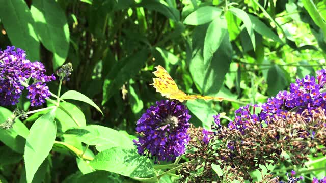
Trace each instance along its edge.
<instances>
[{"instance_id":1,"label":"orange butterfly with ragged-edged, dark-spotted wings on a purple bloom","mask_svg":"<svg viewBox=\"0 0 326 183\"><path fill-rule=\"evenodd\" d=\"M161 93L163 97L167 97L169 99L176 99L180 102L183 102L185 100L195 100L195 99L216 99L219 101L222 101L223 98L221 97L209 97L209 96L201 96L201 95L186 95L184 92L182 92L177 84L174 82L172 77L169 75L169 73L162 67L162 66L156 66L157 70L154 71L154 75L158 78L153 78L154 83L151 85L156 88L156 92Z\"/></svg>"}]
</instances>

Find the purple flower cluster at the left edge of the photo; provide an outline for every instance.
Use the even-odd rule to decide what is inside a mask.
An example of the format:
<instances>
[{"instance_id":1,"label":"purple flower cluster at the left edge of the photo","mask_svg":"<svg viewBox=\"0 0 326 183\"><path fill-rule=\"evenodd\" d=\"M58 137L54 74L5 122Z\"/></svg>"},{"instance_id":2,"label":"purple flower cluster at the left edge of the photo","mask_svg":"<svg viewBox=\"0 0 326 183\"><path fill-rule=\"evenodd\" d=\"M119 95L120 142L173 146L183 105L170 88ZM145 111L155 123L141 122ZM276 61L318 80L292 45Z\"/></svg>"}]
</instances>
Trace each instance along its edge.
<instances>
[{"instance_id":1,"label":"purple flower cluster at the left edge of the photo","mask_svg":"<svg viewBox=\"0 0 326 183\"><path fill-rule=\"evenodd\" d=\"M30 78L33 84L28 88L28 98L31 106L38 106L44 103L49 97L46 82L55 80L55 76L45 75L44 65L40 62L30 62L27 60L25 51L14 46L8 46L5 50L0 50L0 105L15 105L19 101L22 90L22 83L26 83ZM28 84L28 83L27 83Z\"/></svg>"}]
</instances>

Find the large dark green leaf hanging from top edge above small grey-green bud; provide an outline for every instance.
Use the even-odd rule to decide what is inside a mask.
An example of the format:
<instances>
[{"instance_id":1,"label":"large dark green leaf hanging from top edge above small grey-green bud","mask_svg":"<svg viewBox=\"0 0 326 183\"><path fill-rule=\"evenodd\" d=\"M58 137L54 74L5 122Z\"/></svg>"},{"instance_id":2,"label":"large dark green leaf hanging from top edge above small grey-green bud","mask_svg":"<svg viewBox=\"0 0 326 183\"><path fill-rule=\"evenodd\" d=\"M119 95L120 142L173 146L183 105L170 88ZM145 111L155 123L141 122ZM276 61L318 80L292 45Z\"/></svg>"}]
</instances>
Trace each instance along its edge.
<instances>
[{"instance_id":1,"label":"large dark green leaf hanging from top edge above small grey-green bud","mask_svg":"<svg viewBox=\"0 0 326 183\"><path fill-rule=\"evenodd\" d=\"M69 50L65 12L55 0L34 0L31 13L36 34L44 47L53 52L53 68L56 70L65 62Z\"/></svg>"}]
</instances>

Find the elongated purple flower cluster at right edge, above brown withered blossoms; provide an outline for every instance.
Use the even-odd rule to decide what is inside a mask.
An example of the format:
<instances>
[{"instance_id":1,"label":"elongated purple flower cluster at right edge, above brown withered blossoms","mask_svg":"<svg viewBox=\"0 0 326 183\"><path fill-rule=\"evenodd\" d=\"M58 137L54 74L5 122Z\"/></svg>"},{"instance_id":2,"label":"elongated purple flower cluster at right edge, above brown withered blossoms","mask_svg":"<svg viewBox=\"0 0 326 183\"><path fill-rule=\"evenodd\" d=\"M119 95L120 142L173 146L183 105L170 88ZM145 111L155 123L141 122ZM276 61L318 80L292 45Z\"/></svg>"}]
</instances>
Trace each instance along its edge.
<instances>
[{"instance_id":1,"label":"elongated purple flower cluster at right edge, above brown withered blossoms","mask_svg":"<svg viewBox=\"0 0 326 183\"><path fill-rule=\"evenodd\" d=\"M296 79L295 83L291 83L289 92L280 91L275 97L267 99L266 103L240 107L235 111L234 120L228 124L229 129L237 129L242 132L249 123L265 121L268 124L267 118L284 116L290 110L301 113L305 109L308 111L318 107L326 109L326 70L322 69L316 74L316 78L307 75L302 79ZM250 111L250 107L253 112ZM261 111L256 114L255 109L258 107L261 108ZM215 124L219 126L219 116L213 117Z\"/></svg>"}]
</instances>

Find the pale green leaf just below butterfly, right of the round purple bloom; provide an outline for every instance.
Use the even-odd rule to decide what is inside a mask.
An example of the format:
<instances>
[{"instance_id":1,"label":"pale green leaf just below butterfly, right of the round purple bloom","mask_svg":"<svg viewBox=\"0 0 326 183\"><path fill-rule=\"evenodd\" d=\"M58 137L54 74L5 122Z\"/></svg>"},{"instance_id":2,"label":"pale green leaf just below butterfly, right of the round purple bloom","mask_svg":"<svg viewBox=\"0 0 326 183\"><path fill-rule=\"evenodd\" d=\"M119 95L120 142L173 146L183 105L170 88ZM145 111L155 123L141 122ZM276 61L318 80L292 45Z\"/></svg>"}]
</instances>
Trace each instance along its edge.
<instances>
[{"instance_id":1,"label":"pale green leaf just below butterfly, right of the round purple bloom","mask_svg":"<svg viewBox=\"0 0 326 183\"><path fill-rule=\"evenodd\" d=\"M217 112L212 109L212 102L204 100L187 101L188 109L202 121L202 126L206 129L211 128L213 122L213 115Z\"/></svg>"}]
</instances>

